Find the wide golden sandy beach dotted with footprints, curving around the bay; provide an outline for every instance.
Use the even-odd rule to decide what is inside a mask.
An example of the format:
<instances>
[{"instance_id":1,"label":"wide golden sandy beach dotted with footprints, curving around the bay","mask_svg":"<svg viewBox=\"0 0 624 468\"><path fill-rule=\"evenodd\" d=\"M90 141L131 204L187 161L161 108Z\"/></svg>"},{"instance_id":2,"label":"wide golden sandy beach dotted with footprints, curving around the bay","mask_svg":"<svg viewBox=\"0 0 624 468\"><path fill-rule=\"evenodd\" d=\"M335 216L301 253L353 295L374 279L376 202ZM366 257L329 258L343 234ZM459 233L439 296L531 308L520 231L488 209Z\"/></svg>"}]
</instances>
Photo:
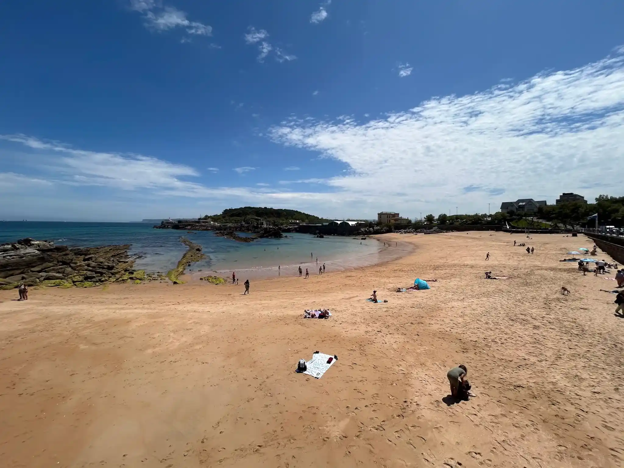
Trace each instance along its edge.
<instances>
[{"instance_id":1,"label":"wide golden sandy beach dotted with footprints, curving around the bay","mask_svg":"<svg viewBox=\"0 0 624 468\"><path fill-rule=\"evenodd\" d=\"M248 296L245 278L0 291L2 466L623 466L615 271L558 261L584 236L532 237L384 235L415 249ZM439 281L394 292L417 277ZM316 350L338 362L296 374ZM477 397L454 402L460 363Z\"/></svg>"}]
</instances>

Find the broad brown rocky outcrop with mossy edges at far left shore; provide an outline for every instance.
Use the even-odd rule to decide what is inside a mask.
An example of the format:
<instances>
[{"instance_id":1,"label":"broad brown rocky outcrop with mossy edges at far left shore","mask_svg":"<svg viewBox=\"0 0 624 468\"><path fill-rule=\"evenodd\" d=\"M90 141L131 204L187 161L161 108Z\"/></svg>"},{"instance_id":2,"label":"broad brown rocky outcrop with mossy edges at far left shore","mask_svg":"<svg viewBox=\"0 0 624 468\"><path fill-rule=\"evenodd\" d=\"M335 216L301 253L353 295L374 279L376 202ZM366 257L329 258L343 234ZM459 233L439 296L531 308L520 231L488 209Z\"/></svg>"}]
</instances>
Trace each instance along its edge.
<instances>
[{"instance_id":1,"label":"broad brown rocky outcrop with mossy edges at far left shore","mask_svg":"<svg viewBox=\"0 0 624 468\"><path fill-rule=\"evenodd\" d=\"M71 248L31 238L0 245L0 288L59 286L69 288L102 283L162 278L134 270L137 257L128 255L130 245Z\"/></svg>"}]
</instances>

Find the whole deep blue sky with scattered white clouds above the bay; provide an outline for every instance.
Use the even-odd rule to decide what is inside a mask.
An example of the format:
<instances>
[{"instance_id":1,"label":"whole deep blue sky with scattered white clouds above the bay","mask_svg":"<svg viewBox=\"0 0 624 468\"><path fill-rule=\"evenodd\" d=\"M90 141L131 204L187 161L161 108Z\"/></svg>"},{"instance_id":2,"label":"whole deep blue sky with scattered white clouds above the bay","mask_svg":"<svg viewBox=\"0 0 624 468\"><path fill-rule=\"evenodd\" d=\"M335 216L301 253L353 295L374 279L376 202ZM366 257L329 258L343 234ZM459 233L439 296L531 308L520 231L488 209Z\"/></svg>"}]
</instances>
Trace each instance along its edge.
<instances>
[{"instance_id":1,"label":"whole deep blue sky with scattered white clouds above the bay","mask_svg":"<svg viewBox=\"0 0 624 468\"><path fill-rule=\"evenodd\" d=\"M622 195L622 24L615 0L2 2L0 218Z\"/></svg>"}]
</instances>

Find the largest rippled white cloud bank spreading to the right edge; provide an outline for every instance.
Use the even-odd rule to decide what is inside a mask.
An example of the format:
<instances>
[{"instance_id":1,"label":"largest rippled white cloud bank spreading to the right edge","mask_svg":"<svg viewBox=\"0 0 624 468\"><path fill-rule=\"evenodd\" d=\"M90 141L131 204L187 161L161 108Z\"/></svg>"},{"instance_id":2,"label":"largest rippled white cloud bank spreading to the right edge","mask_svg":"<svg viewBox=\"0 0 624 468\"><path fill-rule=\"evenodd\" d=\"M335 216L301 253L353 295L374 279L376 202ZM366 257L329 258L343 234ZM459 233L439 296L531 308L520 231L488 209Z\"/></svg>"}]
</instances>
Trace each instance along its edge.
<instances>
[{"instance_id":1,"label":"largest rippled white cloud bank spreading to the right edge","mask_svg":"<svg viewBox=\"0 0 624 468\"><path fill-rule=\"evenodd\" d=\"M324 183L357 215L390 202L412 212L457 203L485 212L488 202L494 211L507 198L538 193L592 198L624 178L616 163L624 160L624 57L436 97L364 124L291 119L270 134L347 165ZM602 187L580 190L595 180Z\"/></svg>"}]
</instances>

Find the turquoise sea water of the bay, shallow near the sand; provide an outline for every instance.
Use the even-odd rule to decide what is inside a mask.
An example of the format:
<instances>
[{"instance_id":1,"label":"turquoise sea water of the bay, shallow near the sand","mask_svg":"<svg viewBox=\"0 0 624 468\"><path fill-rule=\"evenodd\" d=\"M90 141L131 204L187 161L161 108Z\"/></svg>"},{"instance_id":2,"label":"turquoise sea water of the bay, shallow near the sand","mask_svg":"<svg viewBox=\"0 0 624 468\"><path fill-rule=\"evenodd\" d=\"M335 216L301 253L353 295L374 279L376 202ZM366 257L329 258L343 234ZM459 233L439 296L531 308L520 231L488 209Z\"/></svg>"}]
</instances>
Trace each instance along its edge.
<instances>
[{"instance_id":1,"label":"turquoise sea water of the bay, shallow near the sand","mask_svg":"<svg viewBox=\"0 0 624 468\"><path fill-rule=\"evenodd\" d=\"M309 268L312 275L318 273L318 266L323 263L329 271L336 271L402 255L400 245L388 248L373 239L361 241L344 236L319 239L293 233L288 238L241 243L217 237L212 232L187 233L152 226L150 223L0 222L0 243L31 237L69 246L130 244L130 253L142 256L135 264L137 268L164 273L185 252L180 236L187 236L202 245L207 255L206 260L190 267L192 275L216 272L230 276L232 271L237 271L240 277L250 278L295 275L299 265L304 271ZM317 256L319 265L316 265Z\"/></svg>"}]
</instances>

